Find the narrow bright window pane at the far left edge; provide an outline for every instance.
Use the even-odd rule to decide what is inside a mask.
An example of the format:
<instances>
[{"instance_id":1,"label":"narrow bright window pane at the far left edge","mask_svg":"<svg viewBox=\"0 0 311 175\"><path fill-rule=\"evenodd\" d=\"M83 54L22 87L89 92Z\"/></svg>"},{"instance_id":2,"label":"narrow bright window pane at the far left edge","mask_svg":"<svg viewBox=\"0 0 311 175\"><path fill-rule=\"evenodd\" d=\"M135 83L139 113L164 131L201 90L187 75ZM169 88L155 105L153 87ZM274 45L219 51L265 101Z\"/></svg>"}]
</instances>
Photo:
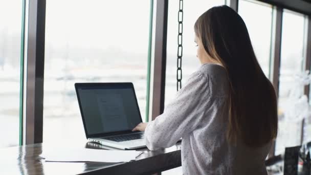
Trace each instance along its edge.
<instances>
[{"instance_id":1,"label":"narrow bright window pane at the far left edge","mask_svg":"<svg viewBox=\"0 0 311 175\"><path fill-rule=\"evenodd\" d=\"M18 145L22 1L0 1L0 147Z\"/></svg>"}]
</instances>

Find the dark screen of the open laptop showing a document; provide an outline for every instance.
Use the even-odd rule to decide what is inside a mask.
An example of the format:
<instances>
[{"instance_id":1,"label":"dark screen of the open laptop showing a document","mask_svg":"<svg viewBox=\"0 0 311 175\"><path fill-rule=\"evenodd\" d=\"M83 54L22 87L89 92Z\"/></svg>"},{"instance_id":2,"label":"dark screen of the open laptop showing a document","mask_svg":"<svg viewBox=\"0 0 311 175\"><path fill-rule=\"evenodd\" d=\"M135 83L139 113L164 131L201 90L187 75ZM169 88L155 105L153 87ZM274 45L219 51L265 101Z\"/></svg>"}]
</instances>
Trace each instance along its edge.
<instances>
[{"instance_id":1,"label":"dark screen of the open laptop showing a document","mask_svg":"<svg viewBox=\"0 0 311 175\"><path fill-rule=\"evenodd\" d=\"M131 130L141 122L131 83L86 83L77 88L87 135Z\"/></svg>"}]
</instances>

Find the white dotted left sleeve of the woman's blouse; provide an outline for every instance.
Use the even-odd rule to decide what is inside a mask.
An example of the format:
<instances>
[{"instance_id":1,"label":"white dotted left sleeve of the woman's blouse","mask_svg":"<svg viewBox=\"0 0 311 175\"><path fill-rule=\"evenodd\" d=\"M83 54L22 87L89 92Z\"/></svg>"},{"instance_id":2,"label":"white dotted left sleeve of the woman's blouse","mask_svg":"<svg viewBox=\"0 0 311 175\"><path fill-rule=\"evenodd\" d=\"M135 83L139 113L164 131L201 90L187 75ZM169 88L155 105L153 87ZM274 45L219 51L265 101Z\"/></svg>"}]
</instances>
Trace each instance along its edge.
<instances>
[{"instance_id":1,"label":"white dotted left sleeve of the woman's blouse","mask_svg":"<svg viewBox=\"0 0 311 175\"><path fill-rule=\"evenodd\" d=\"M147 124L145 140L150 150L170 147L196 128L205 116L209 100L208 83L200 72L191 74L163 114Z\"/></svg>"}]
</instances>

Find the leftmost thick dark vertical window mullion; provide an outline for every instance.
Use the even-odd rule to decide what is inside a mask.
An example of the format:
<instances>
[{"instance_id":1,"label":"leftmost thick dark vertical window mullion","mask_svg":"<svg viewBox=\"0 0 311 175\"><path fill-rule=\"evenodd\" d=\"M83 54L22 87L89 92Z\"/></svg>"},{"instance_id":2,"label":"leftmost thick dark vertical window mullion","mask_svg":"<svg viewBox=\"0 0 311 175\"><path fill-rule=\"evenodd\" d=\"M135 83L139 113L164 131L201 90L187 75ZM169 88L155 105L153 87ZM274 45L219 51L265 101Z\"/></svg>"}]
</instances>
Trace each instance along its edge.
<instances>
[{"instance_id":1,"label":"leftmost thick dark vertical window mullion","mask_svg":"<svg viewBox=\"0 0 311 175\"><path fill-rule=\"evenodd\" d=\"M43 79L45 63L46 0L29 1L27 87L26 87L26 144L42 142Z\"/></svg>"}]
</instances>

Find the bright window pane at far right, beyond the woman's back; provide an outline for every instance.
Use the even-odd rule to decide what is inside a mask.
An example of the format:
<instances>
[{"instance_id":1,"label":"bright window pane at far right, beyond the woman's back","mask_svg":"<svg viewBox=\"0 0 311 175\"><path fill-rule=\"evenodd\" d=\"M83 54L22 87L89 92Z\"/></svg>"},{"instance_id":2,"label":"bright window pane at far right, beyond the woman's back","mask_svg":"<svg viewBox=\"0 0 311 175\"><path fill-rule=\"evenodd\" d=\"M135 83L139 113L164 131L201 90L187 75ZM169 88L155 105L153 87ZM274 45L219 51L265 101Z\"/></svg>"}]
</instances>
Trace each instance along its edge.
<instances>
[{"instance_id":1,"label":"bright window pane at far right, beyond the woman's back","mask_svg":"<svg viewBox=\"0 0 311 175\"><path fill-rule=\"evenodd\" d=\"M303 33L304 17L288 11L283 12L281 63L279 82L279 133L276 142L276 154L284 147L300 144L301 120L285 120L286 100L290 90L297 83L294 76L303 70ZM301 89L303 87L301 86ZM292 106L295 101L291 101ZM287 110L286 109L286 110Z\"/></svg>"}]
</instances>

